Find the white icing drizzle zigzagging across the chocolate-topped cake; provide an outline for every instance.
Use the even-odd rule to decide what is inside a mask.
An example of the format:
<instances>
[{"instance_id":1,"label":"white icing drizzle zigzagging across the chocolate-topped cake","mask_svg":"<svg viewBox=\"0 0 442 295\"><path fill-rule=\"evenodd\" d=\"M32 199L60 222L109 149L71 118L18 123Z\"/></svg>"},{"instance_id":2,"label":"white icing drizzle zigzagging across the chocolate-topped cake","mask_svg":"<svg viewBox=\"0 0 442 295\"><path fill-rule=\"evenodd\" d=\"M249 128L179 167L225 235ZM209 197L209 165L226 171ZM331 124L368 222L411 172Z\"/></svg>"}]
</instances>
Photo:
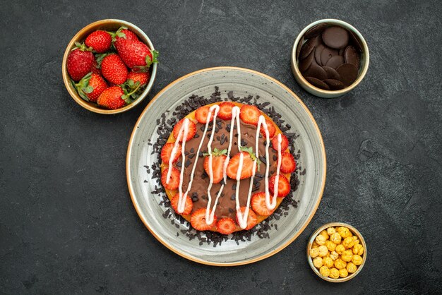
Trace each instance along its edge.
<instances>
[{"instance_id":1,"label":"white icing drizzle zigzagging across the chocolate-topped cake","mask_svg":"<svg viewBox=\"0 0 442 295\"><path fill-rule=\"evenodd\" d=\"M241 182L241 172L244 166L244 155L241 153L241 124L240 124L240 119L239 119L239 112L240 109L237 106L234 106L232 108L232 120L230 121L230 133L229 133L229 148L227 149L227 157L225 159L224 165L223 165L223 169L222 169L222 176L223 176L223 180L224 183L222 184L220 191L218 191L217 196L215 198L215 203L213 205L212 210L210 210L210 205L212 203L212 196L210 194L210 189L213 186L213 167L212 167L212 163L213 163L213 155L212 155L212 143L213 143L213 137L215 136L215 126L216 126L216 119L217 119L217 114L220 110L219 105L214 104L213 106L210 107L209 112L208 112L208 118L210 118L213 114L213 128L210 134L210 139L208 141L208 166L209 166L209 185L208 185L208 204L207 207L205 208L205 222L207 224L212 224L213 223L213 219L215 217L215 210L217 207L217 203L218 200L220 198L220 195L222 193L222 190L224 189L225 183L227 183L227 165L229 163L229 159L230 159L230 152L232 151L232 142L233 142L233 136L234 136L234 124L236 124L237 126L237 134L238 134L238 151L240 152L239 155L239 165L238 165L238 170L237 170L237 175L236 175L236 180L237 180L237 187L235 190L235 203L236 203L236 209L237 209L237 219L239 222L239 227L241 227L241 229L245 229L247 227L247 219L249 217L249 207L250 207L250 202L251 202L251 191L253 188L253 179L255 177L256 174L256 167L258 164L258 157L259 157L259 133L261 131L261 126L263 126L263 129L265 131L265 206L268 208L268 210L273 210L276 207L276 198L277 198L277 184L279 181L279 176L280 176L280 167L281 167L281 143L282 143L282 136L281 134L277 135L277 169L276 169L276 176L275 176L275 186L273 187L273 198L272 201L270 203L270 192L268 190L268 174L269 174L269 165L270 165L270 157L269 157L269 147L270 147L270 135L269 135L269 131L268 131L268 126L267 126L267 122L265 122L265 117L263 115L259 116L258 118L258 126L256 127L256 138L255 138L255 155L256 155L256 159L253 161L253 167L252 167L252 176L250 179L250 184L249 184L249 192L247 195L247 203L246 203L246 210L244 210L244 212L241 212L240 208L240 204L239 204L239 185ZM210 120L207 120L207 122L205 123L205 128L203 131L203 136L201 136L201 142L198 145L198 150L196 152L196 155L199 155L200 151L201 151L201 147L203 145L203 140L205 138L205 135L208 131L208 126L209 126ZM185 118L183 121L183 124L181 125L181 128L179 129L179 135L177 140L174 143L174 148L172 149L172 153L169 159L169 167L172 167L172 160L174 159L175 155L177 155L177 149L178 149L178 145L179 142L181 140L181 138L187 138L187 135L189 133L189 119ZM185 163L186 161L186 155L184 154L185 152L185 146L186 146L186 141L183 140L182 141L182 145L181 145L181 163ZM185 209L185 205L186 205L186 197L189 193L189 191L191 190L191 186L193 183L193 176L195 175L195 169L196 169L196 164L198 162L198 158L196 157L195 162L193 162L193 167L192 167L192 171L191 171L191 175L190 175L190 180L189 180L189 186L187 187L187 190L185 193L183 193L182 191L182 186L183 186L183 179L184 179L184 167L185 165L181 165L181 173L180 173L180 180L179 180L179 201L178 201L178 213L182 213L184 212ZM170 176L172 174L172 169L169 169L169 171L167 171L167 179L166 179L166 183L169 183L170 181Z\"/></svg>"}]
</instances>

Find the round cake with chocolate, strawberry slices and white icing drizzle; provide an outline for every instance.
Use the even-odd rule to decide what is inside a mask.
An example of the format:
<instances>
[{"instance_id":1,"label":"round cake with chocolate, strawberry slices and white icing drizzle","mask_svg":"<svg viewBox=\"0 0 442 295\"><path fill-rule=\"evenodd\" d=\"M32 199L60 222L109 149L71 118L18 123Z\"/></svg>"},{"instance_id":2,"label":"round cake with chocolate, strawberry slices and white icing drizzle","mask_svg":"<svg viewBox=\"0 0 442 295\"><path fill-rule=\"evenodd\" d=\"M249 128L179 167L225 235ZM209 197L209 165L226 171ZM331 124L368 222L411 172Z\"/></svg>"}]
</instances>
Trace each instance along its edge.
<instances>
[{"instance_id":1,"label":"round cake with chocolate, strawberry slices and white icing drizzle","mask_svg":"<svg viewBox=\"0 0 442 295\"><path fill-rule=\"evenodd\" d=\"M174 125L161 150L161 183L194 229L249 230L290 193L296 162L288 146L256 106L207 104Z\"/></svg>"}]
</instances>

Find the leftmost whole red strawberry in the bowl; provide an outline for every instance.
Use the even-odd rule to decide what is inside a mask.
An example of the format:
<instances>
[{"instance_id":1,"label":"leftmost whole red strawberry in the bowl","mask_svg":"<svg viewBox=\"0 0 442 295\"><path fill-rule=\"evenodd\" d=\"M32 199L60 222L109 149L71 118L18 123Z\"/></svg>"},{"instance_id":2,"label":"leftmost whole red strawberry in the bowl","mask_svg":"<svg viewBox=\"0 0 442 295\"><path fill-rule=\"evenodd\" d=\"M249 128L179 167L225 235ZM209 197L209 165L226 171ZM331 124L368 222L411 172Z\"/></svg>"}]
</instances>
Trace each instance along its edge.
<instances>
[{"instance_id":1,"label":"leftmost whole red strawberry in the bowl","mask_svg":"<svg viewBox=\"0 0 442 295\"><path fill-rule=\"evenodd\" d=\"M88 49L85 44L76 42L76 48L69 52L66 66L72 80L78 82L86 76L87 73L92 72L95 58L90 50L91 49Z\"/></svg>"}]
</instances>

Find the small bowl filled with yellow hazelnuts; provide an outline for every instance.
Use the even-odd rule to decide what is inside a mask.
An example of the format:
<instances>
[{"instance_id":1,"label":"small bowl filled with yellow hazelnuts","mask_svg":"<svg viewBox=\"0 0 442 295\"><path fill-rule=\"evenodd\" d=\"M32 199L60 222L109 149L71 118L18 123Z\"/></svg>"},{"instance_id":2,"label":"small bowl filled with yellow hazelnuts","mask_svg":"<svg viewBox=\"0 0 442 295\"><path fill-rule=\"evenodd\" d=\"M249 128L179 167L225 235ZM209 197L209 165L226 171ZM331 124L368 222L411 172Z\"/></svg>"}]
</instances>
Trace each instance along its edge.
<instances>
[{"instance_id":1,"label":"small bowl filled with yellow hazelnuts","mask_svg":"<svg viewBox=\"0 0 442 295\"><path fill-rule=\"evenodd\" d=\"M307 260L321 279L334 283L347 282L364 267L366 243L362 234L350 224L324 224L309 239Z\"/></svg>"}]
</instances>

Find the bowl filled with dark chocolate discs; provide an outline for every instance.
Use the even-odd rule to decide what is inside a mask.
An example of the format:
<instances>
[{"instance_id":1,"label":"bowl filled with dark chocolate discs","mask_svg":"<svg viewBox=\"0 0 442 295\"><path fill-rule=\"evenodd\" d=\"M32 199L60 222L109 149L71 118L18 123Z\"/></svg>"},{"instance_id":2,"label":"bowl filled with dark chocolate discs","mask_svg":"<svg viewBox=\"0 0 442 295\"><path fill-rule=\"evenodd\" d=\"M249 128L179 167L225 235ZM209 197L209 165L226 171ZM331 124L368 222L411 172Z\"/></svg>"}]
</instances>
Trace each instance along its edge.
<instances>
[{"instance_id":1,"label":"bowl filled with dark chocolate discs","mask_svg":"<svg viewBox=\"0 0 442 295\"><path fill-rule=\"evenodd\" d=\"M355 88L369 68L361 33L342 20L318 20L294 41L292 72L302 88L318 97L338 97Z\"/></svg>"}]
</instances>

